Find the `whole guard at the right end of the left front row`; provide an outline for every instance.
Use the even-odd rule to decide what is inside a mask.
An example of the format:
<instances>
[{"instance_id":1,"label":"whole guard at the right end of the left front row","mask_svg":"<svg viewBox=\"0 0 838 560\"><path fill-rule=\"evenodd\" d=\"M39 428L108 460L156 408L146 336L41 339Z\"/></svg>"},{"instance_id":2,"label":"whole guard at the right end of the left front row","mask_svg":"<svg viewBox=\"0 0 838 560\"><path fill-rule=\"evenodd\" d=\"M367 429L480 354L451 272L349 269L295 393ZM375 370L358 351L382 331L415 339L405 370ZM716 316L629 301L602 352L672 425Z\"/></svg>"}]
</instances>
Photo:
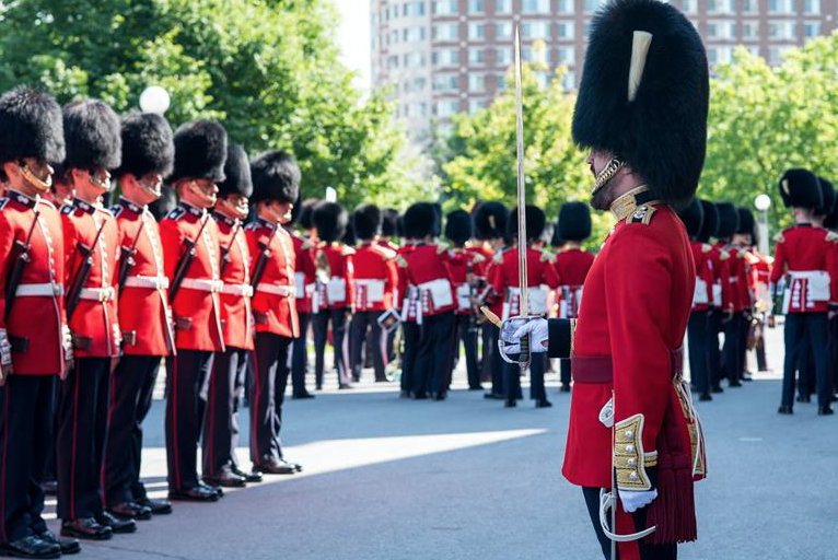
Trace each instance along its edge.
<instances>
[{"instance_id":1,"label":"whole guard at the right end of the left front row","mask_svg":"<svg viewBox=\"0 0 838 560\"><path fill-rule=\"evenodd\" d=\"M300 194L294 159L269 151L251 162L256 221L247 224L253 255L253 316L256 324L254 387L251 399L251 460L254 470L292 475L302 466L284 459L279 432L290 369L291 341L300 336L294 302L294 245L283 228Z\"/></svg>"}]
</instances>

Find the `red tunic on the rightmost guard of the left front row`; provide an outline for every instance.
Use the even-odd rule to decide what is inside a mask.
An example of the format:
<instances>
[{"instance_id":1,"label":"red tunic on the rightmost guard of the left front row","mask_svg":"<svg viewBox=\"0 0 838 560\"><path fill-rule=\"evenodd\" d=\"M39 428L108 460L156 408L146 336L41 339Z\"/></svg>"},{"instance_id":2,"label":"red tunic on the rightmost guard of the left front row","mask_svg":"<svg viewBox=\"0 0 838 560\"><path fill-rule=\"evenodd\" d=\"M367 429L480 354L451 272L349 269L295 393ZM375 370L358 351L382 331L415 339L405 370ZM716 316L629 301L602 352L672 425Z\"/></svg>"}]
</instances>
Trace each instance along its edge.
<instances>
[{"instance_id":1,"label":"red tunic on the rightmost guard of the left front row","mask_svg":"<svg viewBox=\"0 0 838 560\"><path fill-rule=\"evenodd\" d=\"M296 338L300 336L300 325L294 302L294 244L284 228L279 228L275 233L276 228L276 224L259 219L248 223L245 229L253 267L256 266L259 253L269 252L252 301L256 332Z\"/></svg>"}]
</instances>

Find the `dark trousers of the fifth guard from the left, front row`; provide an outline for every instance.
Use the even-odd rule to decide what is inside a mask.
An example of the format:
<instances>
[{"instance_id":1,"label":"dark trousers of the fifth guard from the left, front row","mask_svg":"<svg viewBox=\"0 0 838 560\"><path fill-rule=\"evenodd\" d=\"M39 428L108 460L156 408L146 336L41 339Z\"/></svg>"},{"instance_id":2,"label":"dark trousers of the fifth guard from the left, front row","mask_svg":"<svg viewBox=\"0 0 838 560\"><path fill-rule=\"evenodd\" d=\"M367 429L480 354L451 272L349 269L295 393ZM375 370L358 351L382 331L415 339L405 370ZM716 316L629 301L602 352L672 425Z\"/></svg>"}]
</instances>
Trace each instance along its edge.
<instances>
[{"instance_id":1,"label":"dark trousers of the fifth guard from the left, front row","mask_svg":"<svg viewBox=\"0 0 838 560\"><path fill-rule=\"evenodd\" d=\"M238 397L244 390L247 354L247 350L228 347L212 358L201 435L205 477L218 478L225 469L237 466Z\"/></svg>"}]
</instances>

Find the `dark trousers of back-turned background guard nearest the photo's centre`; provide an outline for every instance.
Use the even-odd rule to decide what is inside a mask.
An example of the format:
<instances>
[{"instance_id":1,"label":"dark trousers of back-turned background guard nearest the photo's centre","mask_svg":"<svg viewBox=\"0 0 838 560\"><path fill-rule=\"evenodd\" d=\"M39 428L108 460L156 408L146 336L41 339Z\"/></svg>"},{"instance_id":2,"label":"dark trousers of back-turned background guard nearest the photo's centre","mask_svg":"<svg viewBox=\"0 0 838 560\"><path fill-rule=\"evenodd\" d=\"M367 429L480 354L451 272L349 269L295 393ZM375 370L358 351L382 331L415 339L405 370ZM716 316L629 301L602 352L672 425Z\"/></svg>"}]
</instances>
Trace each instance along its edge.
<instances>
[{"instance_id":1,"label":"dark trousers of back-turned background guard nearest the photo's centre","mask_svg":"<svg viewBox=\"0 0 838 560\"><path fill-rule=\"evenodd\" d=\"M414 394L444 394L449 342L454 332L454 312L422 317L421 329L414 370Z\"/></svg>"}]
</instances>

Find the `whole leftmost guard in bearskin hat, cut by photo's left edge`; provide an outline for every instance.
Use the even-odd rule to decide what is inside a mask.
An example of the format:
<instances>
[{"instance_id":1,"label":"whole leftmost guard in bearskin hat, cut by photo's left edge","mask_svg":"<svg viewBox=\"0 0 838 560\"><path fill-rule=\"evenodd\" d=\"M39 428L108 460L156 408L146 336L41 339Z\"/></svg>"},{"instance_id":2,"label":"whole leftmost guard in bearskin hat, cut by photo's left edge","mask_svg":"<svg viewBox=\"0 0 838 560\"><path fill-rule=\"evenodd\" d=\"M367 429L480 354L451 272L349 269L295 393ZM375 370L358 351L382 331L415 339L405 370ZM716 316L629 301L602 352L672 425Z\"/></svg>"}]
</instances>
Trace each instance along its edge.
<instances>
[{"instance_id":1,"label":"whole leftmost guard in bearskin hat, cut by photo's left edge","mask_svg":"<svg viewBox=\"0 0 838 560\"><path fill-rule=\"evenodd\" d=\"M65 313L61 218L44 197L65 159L61 108L16 88L0 97L0 552L78 552L42 516L42 476L55 441L56 382L72 362ZM109 530L109 529L108 529Z\"/></svg>"}]
</instances>

